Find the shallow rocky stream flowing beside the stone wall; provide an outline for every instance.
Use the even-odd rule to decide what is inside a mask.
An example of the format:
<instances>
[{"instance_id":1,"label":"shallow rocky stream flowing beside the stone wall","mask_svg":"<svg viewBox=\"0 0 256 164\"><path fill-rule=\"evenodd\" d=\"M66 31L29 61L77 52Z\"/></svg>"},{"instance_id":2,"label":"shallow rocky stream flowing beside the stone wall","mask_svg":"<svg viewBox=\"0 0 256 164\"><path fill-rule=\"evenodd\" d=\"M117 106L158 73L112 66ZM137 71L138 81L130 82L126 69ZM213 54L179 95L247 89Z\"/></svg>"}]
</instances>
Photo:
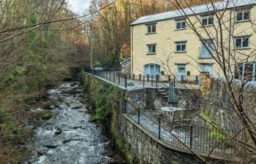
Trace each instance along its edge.
<instances>
[{"instance_id":1,"label":"shallow rocky stream flowing beside the stone wall","mask_svg":"<svg viewBox=\"0 0 256 164\"><path fill-rule=\"evenodd\" d=\"M89 122L89 107L83 103L83 88L79 82L64 82L48 90L54 102L49 109L53 117L33 128L34 138L29 148L34 152L33 164L124 163L111 149L100 125Z\"/></svg>"}]
</instances>

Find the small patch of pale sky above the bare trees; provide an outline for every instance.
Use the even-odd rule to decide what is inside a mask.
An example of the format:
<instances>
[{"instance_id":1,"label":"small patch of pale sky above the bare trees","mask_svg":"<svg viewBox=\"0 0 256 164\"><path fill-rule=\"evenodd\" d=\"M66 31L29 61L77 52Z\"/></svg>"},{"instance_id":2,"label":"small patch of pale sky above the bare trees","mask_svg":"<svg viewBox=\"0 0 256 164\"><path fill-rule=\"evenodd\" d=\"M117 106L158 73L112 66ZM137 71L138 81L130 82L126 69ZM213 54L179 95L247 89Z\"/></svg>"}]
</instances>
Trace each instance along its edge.
<instances>
[{"instance_id":1,"label":"small patch of pale sky above the bare trees","mask_svg":"<svg viewBox=\"0 0 256 164\"><path fill-rule=\"evenodd\" d=\"M83 12L89 8L91 0L67 0L67 2L71 6L72 12L83 15Z\"/></svg>"}]
</instances>

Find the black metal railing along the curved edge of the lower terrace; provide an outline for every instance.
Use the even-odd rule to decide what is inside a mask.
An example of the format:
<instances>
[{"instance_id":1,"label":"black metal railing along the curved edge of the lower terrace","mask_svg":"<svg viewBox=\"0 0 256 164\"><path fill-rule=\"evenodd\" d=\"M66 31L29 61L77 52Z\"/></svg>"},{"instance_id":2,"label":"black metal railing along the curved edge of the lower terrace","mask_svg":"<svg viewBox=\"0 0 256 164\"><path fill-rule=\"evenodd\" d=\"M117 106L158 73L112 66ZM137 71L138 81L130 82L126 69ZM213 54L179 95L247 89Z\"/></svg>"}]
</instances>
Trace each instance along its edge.
<instances>
[{"instance_id":1,"label":"black metal railing along the curved edge of the lower terrace","mask_svg":"<svg viewBox=\"0 0 256 164\"><path fill-rule=\"evenodd\" d=\"M166 120L144 109L133 109L126 114L157 138L177 147L184 148L185 145L192 151L211 155L241 155L246 152L243 147L228 140L212 125L184 124L178 120Z\"/></svg>"}]
</instances>

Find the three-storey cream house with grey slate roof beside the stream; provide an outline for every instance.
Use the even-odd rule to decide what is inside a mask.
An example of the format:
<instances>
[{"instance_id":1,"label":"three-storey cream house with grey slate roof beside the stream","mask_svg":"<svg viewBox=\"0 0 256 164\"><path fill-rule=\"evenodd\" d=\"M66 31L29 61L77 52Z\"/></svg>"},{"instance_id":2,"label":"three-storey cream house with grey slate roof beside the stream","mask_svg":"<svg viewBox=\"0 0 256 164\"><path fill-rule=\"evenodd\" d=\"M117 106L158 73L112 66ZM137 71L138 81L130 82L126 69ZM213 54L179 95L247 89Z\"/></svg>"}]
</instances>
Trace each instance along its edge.
<instances>
[{"instance_id":1,"label":"three-storey cream house with grey slate roof beside the stream","mask_svg":"<svg viewBox=\"0 0 256 164\"><path fill-rule=\"evenodd\" d=\"M222 77L216 60L219 50L216 47L222 33L224 41L231 36L231 42L225 43L225 48L230 46L233 55L227 62L231 68L229 76L234 79L251 77L250 80L255 81L255 4L255 0L224 0L214 5L203 4L140 17L130 24L131 73L162 77L172 74L177 80L202 72ZM219 31L217 16L224 10L222 31Z\"/></svg>"}]
</instances>

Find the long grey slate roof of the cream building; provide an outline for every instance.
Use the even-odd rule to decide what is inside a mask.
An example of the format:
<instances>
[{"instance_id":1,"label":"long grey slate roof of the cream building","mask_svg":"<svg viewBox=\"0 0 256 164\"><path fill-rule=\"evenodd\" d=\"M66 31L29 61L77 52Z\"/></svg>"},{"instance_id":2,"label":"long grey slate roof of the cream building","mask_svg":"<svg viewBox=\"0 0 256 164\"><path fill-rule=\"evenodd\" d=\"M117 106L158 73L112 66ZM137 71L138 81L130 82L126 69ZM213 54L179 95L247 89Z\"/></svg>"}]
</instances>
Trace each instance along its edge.
<instances>
[{"instance_id":1,"label":"long grey slate roof of the cream building","mask_svg":"<svg viewBox=\"0 0 256 164\"><path fill-rule=\"evenodd\" d=\"M254 4L256 4L256 0L223 0L214 2L214 7L218 10L221 10L225 9L226 6L228 9L231 9L234 7L244 7ZM186 13L186 15L202 14L205 12L214 11L214 7L211 4L203 4L200 6L186 8L184 9L184 12ZM131 23L130 26L135 26L143 23L151 23L159 20L168 20L176 17L182 17L185 15L184 12L182 12L181 9L177 9L170 12L162 12L155 15L147 15L144 17L140 17L138 20L135 20L135 22Z\"/></svg>"}]
</instances>

